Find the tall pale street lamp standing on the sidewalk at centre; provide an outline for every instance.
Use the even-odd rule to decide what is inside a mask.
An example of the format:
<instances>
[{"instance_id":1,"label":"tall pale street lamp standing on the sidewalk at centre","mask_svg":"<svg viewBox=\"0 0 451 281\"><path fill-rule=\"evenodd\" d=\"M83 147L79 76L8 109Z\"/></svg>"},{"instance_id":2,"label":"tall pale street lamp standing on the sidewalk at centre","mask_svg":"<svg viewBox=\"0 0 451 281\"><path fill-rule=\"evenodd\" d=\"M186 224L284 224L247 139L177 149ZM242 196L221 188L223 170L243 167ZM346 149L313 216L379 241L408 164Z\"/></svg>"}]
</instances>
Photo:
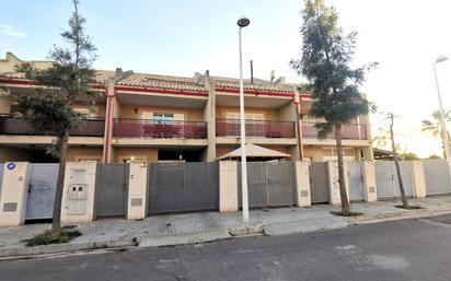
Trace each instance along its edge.
<instances>
[{"instance_id":1,"label":"tall pale street lamp standing on the sidewalk at centre","mask_svg":"<svg viewBox=\"0 0 451 281\"><path fill-rule=\"evenodd\" d=\"M243 58L241 51L241 28L246 27L251 21L242 16L236 24L239 30L240 45L240 138L241 138L241 197L243 206L243 221L248 222L248 199L247 199L247 164L246 164L246 128L244 121L244 91L243 91Z\"/></svg>"}]
</instances>

